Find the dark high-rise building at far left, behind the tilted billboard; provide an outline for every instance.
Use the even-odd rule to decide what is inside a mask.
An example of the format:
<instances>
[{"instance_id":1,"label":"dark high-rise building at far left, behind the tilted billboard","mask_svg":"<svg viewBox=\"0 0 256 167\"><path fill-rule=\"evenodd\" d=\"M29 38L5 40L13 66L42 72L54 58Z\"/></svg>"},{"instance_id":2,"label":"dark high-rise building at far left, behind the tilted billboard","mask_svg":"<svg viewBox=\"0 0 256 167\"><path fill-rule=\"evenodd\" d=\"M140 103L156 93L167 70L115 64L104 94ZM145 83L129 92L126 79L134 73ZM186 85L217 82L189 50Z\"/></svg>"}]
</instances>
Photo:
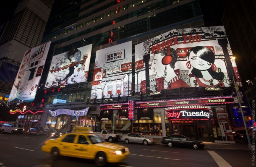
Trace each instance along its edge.
<instances>
[{"instance_id":1,"label":"dark high-rise building at far left, behind the tilted billboard","mask_svg":"<svg viewBox=\"0 0 256 167\"><path fill-rule=\"evenodd\" d=\"M52 0L8 2L7 5L13 8L1 16L0 25L1 104L7 103L24 52L41 44L52 3ZM5 120L3 117L2 119Z\"/></svg>"}]
</instances>

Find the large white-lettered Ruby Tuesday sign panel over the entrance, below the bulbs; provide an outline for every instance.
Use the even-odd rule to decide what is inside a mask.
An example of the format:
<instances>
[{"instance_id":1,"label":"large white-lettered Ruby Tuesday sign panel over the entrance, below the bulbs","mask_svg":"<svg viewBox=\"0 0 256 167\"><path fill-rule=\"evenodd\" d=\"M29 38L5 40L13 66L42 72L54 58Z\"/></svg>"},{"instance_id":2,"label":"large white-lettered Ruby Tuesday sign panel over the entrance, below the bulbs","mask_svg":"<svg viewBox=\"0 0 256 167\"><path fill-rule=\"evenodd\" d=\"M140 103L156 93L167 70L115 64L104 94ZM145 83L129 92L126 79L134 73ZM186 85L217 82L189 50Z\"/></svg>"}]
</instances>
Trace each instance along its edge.
<instances>
[{"instance_id":1,"label":"large white-lettered Ruby Tuesday sign panel over the entrance, below the bulbs","mask_svg":"<svg viewBox=\"0 0 256 167\"><path fill-rule=\"evenodd\" d=\"M176 109L167 110L169 120L209 120L210 112L207 109Z\"/></svg>"}]
</instances>

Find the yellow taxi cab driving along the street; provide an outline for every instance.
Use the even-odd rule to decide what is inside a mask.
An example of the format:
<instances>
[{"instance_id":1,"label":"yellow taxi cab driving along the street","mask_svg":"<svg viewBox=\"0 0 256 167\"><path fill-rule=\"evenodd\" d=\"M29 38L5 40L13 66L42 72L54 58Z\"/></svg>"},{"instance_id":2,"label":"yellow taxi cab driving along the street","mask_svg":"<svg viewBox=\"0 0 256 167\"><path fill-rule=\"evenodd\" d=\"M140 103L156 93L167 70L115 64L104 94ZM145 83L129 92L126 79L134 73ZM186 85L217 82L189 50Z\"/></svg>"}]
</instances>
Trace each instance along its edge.
<instances>
[{"instance_id":1,"label":"yellow taxi cab driving along the street","mask_svg":"<svg viewBox=\"0 0 256 167\"><path fill-rule=\"evenodd\" d=\"M71 133L45 141L41 149L51 154L53 160L60 156L94 159L99 167L107 162L121 162L130 154L126 146L106 142L91 127L76 127Z\"/></svg>"}]
</instances>

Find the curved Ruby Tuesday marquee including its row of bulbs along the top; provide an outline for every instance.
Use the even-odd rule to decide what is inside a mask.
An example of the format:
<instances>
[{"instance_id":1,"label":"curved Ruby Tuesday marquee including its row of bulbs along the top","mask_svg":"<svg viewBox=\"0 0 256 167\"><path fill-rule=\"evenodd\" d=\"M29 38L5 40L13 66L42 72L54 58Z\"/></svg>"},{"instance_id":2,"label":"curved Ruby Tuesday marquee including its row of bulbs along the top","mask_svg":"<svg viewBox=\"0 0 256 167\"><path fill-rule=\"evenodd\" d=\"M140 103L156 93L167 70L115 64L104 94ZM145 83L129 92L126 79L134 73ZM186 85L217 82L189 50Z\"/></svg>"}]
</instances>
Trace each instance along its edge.
<instances>
[{"instance_id":1,"label":"curved Ruby Tuesday marquee including its row of bulbs along the top","mask_svg":"<svg viewBox=\"0 0 256 167\"><path fill-rule=\"evenodd\" d=\"M176 106L166 108L169 120L209 120L211 107L208 106Z\"/></svg>"}]
</instances>

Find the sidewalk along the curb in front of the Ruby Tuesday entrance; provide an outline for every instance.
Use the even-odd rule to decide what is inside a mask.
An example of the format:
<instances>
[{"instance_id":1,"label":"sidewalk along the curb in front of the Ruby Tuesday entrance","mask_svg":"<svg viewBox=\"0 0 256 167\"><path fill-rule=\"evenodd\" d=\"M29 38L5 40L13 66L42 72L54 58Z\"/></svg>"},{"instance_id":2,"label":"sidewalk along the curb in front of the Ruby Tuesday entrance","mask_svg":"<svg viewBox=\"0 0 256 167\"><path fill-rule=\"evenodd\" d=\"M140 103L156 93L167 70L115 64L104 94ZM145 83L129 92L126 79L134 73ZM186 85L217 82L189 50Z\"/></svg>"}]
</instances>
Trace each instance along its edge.
<instances>
[{"instance_id":1,"label":"sidewalk along the curb in front of the Ruby Tuesday entrance","mask_svg":"<svg viewBox=\"0 0 256 167\"><path fill-rule=\"evenodd\" d=\"M162 144L162 139L154 138L155 144ZM240 151L251 151L248 148L248 144L244 142L236 142L235 144L227 144L227 143L212 143L208 141L203 141L205 149L225 149L225 150L240 150Z\"/></svg>"}]
</instances>

